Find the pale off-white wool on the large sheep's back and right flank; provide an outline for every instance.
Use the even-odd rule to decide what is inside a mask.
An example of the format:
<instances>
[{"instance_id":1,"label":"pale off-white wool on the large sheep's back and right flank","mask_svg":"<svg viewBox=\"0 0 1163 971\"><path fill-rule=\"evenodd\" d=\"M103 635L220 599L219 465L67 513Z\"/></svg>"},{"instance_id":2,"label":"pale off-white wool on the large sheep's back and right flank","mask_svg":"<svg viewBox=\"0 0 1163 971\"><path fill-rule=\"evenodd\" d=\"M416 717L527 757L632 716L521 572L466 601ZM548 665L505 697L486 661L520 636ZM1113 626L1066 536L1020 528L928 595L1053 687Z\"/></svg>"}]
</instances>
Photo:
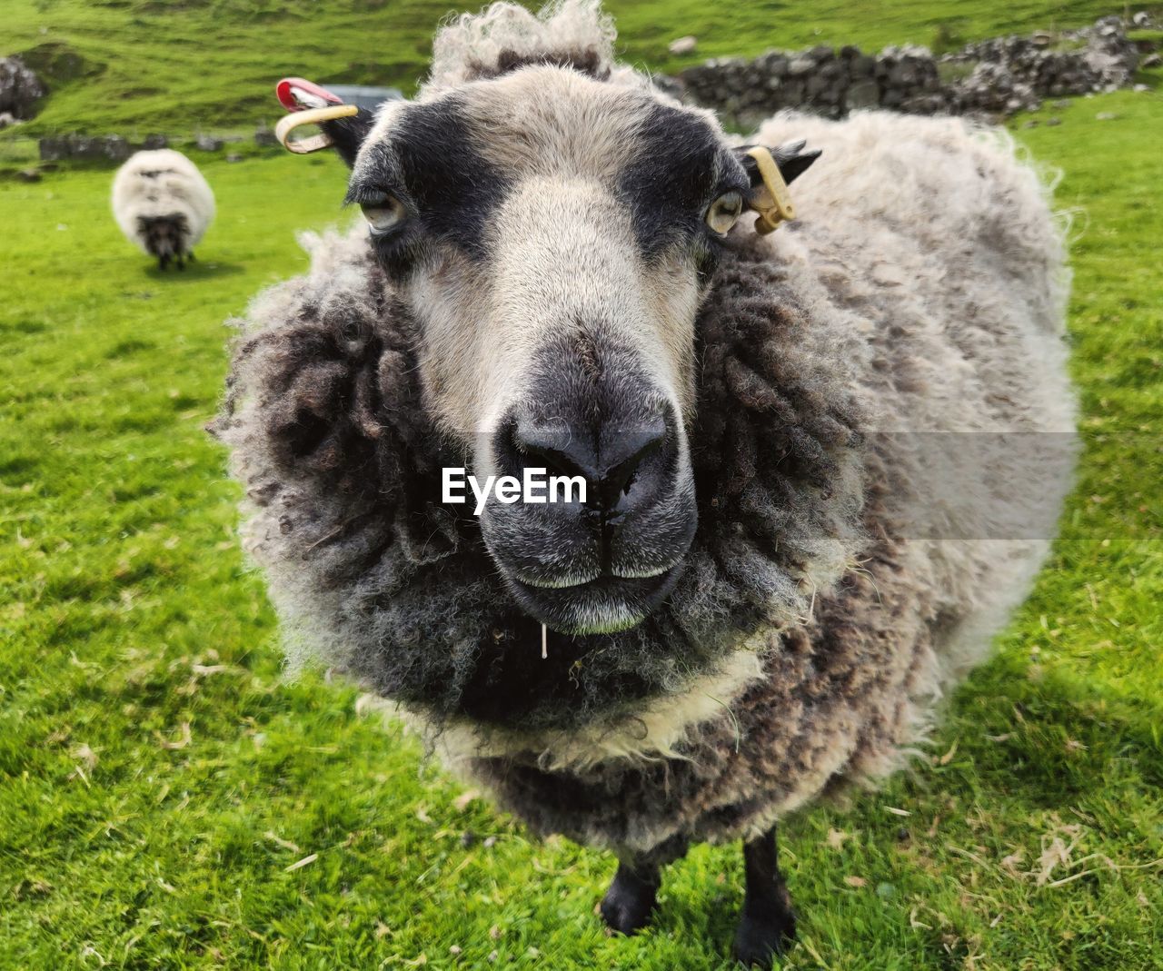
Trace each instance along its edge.
<instances>
[{"instance_id":1,"label":"pale off-white wool on the large sheep's back and right flank","mask_svg":"<svg viewBox=\"0 0 1163 971\"><path fill-rule=\"evenodd\" d=\"M913 497L894 502L923 564L916 583L964 617L934 645L943 691L1025 600L1072 483L1066 220L1047 219L1057 173L1005 131L952 117L784 113L747 141L797 138L823 157L793 186L801 222L772 237L777 258L806 259L859 309L873 348L925 384L878 388L875 430L922 454ZM901 317L928 326L890 336Z\"/></svg>"}]
</instances>

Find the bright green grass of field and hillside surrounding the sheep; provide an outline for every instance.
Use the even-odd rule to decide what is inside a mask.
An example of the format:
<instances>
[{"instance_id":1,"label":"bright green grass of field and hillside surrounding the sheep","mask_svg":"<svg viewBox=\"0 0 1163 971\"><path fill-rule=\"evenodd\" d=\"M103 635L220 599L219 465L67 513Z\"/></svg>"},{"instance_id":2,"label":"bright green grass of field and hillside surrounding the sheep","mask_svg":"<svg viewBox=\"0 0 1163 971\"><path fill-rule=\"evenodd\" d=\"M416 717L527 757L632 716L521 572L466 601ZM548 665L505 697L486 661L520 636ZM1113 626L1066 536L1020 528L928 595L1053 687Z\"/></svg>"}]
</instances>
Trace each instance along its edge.
<instances>
[{"instance_id":1,"label":"bright green grass of field and hillside surrounding the sheep","mask_svg":"<svg viewBox=\"0 0 1163 971\"><path fill-rule=\"evenodd\" d=\"M377 26L400 9L363 6ZM764 6L794 43L812 26L925 40L942 19L920 2ZM300 38L288 70L338 70L342 38L344 57L370 56L363 12L333 28L308 5L242 8L254 31ZM419 24L436 9L402 5L401 72L419 72ZM157 87L188 84L183 65L205 55L222 72L208 81L217 100L193 112L216 122L231 116L231 77L281 72L272 51L235 59L258 34L226 10L9 0L5 43L51 22L50 36L115 55L94 87L107 93L97 127L142 130L176 116L160 94L108 94L144 64L130 53L165 51L164 71L141 78ZM623 44L651 63L687 31L706 53L763 47L727 31L734 10L758 16L637 5ZM1103 9L957 12L980 35ZM84 113L77 88L44 117ZM929 757L879 793L786 822L802 920L785 969L1163 969L1163 99L1120 92L1034 117L1051 114L1059 127L1014 128L1063 170L1058 199L1075 210L1078 488L1035 594ZM357 714L350 687L283 679L273 615L234 538L236 488L202 426L226 371L223 321L305 267L295 230L348 217L344 173L317 156L207 159L205 172L220 216L185 274L158 273L120 237L110 172L0 181L0 969L729 968L736 848L694 850L670 871L656 926L608 938L593 908L611 859L531 841Z\"/></svg>"}]
</instances>

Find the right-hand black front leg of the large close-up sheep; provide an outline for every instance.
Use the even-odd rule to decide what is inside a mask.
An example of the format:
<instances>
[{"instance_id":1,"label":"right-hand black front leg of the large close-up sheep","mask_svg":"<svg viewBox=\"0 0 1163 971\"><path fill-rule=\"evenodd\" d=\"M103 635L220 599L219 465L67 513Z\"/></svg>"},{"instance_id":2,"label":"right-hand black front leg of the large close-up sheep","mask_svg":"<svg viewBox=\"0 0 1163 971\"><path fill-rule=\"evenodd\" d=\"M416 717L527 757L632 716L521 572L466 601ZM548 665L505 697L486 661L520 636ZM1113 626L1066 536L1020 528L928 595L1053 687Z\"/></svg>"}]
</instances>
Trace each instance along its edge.
<instances>
[{"instance_id":1,"label":"right-hand black front leg of the large close-up sheep","mask_svg":"<svg viewBox=\"0 0 1163 971\"><path fill-rule=\"evenodd\" d=\"M743 873L747 890L735 957L745 965L770 968L772 958L795 940L795 914L779 872L776 827L743 843Z\"/></svg>"}]
</instances>

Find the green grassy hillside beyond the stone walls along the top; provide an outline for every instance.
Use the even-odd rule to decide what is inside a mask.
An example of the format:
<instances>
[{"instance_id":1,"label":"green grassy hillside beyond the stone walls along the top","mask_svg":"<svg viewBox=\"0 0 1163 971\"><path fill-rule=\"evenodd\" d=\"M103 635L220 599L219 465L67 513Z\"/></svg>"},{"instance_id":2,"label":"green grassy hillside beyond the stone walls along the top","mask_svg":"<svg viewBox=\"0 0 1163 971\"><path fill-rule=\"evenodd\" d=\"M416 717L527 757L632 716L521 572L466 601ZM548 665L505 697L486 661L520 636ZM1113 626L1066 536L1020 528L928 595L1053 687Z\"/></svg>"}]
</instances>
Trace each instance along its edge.
<instances>
[{"instance_id":1,"label":"green grassy hillside beyond the stone walls along the top","mask_svg":"<svg viewBox=\"0 0 1163 971\"><path fill-rule=\"evenodd\" d=\"M412 91L433 28L452 8L450 0L6 0L0 55L26 56L51 91L20 136L247 130L278 116L271 88L286 74ZM949 43L1123 12L1112 0L820 0L809 13L776 0L611 0L607 8L625 58L658 71L772 47ZM685 34L698 50L670 56L668 43Z\"/></svg>"}]
</instances>

